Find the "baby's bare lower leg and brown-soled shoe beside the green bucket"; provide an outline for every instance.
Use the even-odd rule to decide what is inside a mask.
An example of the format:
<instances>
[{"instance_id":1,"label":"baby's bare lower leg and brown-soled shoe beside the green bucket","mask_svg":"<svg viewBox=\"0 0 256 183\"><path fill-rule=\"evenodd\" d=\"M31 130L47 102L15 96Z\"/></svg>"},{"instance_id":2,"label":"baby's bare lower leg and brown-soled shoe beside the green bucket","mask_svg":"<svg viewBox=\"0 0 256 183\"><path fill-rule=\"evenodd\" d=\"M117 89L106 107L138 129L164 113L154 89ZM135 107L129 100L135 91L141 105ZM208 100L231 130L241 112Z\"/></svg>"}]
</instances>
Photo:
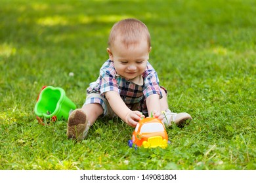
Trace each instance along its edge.
<instances>
[{"instance_id":1,"label":"baby's bare lower leg and brown-soled shoe beside the green bucket","mask_svg":"<svg viewBox=\"0 0 256 183\"><path fill-rule=\"evenodd\" d=\"M89 127L95 123L101 114L103 114L103 108L97 103L75 109L68 118L68 139L85 139Z\"/></svg>"}]
</instances>

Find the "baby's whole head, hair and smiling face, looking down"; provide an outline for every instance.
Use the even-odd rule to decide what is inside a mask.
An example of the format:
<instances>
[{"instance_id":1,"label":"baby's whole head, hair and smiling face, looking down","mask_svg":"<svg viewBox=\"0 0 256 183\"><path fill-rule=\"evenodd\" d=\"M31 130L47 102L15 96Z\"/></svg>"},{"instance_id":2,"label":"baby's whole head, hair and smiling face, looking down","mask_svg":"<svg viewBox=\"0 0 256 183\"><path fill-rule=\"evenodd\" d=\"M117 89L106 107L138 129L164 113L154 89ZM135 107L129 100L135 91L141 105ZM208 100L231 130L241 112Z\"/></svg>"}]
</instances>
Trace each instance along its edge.
<instances>
[{"instance_id":1,"label":"baby's whole head, hair and smiling face, looking down","mask_svg":"<svg viewBox=\"0 0 256 183\"><path fill-rule=\"evenodd\" d=\"M130 80L142 74L150 50L150 33L139 20L121 20L112 27L107 51L119 75Z\"/></svg>"}]
</instances>

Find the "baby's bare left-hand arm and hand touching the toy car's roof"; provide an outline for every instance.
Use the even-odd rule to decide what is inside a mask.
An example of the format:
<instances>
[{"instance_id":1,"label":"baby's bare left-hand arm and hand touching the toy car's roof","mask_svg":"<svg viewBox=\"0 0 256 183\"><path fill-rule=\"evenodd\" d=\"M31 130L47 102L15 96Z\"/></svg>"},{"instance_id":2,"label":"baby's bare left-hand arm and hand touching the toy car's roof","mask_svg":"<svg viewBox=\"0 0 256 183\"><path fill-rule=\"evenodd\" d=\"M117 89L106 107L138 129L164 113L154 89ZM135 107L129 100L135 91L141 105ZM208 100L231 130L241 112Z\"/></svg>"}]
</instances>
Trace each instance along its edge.
<instances>
[{"instance_id":1,"label":"baby's bare left-hand arm and hand touching the toy car's roof","mask_svg":"<svg viewBox=\"0 0 256 183\"><path fill-rule=\"evenodd\" d=\"M119 118L121 118L121 120L133 127L137 125L143 116L139 111L130 110L116 91L105 92L104 95L112 110L119 116Z\"/></svg>"}]
</instances>

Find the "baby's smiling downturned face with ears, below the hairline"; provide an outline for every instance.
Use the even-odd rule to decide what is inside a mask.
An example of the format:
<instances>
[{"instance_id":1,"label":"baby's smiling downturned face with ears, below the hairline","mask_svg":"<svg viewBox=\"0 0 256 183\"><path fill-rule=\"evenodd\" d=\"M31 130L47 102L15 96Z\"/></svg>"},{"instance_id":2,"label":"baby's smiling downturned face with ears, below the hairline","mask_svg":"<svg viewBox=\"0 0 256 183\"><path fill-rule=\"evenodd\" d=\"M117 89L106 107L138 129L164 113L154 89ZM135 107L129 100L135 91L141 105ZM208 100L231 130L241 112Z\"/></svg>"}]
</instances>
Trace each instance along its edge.
<instances>
[{"instance_id":1,"label":"baby's smiling downturned face with ears, below the hairline","mask_svg":"<svg viewBox=\"0 0 256 183\"><path fill-rule=\"evenodd\" d=\"M114 66L118 75L127 80L131 80L146 70L146 64L149 59L151 48L148 48L148 42L144 39L136 44L125 45L117 39L111 50L107 48L110 60L114 61Z\"/></svg>"}]
</instances>

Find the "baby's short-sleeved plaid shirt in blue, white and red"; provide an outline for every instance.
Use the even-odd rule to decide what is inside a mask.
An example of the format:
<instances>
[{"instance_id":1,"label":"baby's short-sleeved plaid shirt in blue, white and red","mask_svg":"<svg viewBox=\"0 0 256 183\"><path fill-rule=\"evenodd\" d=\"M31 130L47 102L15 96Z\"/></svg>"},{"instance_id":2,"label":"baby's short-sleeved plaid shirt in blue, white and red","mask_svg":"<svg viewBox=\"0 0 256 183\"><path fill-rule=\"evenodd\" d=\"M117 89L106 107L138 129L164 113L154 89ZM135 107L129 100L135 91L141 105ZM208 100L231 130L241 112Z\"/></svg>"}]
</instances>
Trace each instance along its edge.
<instances>
[{"instance_id":1,"label":"baby's short-sleeved plaid shirt in blue, white and red","mask_svg":"<svg viewBox=\"0 0 256 183\"><path fill-rule=\"evenodd\" d=\"M100 76L87 88L87 94L100 93L104 97L105 92L116 91L119 93L126 105L141 103L142 100L152 94L161 95L158 75L152 65L147 62L146 70L139 76L142 83L135 83L133 80L126 80L116 73L114 62L108 59L100 69ZM97 99L98 100L98 99ZM100 103L91 101L91 103Z\"/></svg>"}]
</instances>

